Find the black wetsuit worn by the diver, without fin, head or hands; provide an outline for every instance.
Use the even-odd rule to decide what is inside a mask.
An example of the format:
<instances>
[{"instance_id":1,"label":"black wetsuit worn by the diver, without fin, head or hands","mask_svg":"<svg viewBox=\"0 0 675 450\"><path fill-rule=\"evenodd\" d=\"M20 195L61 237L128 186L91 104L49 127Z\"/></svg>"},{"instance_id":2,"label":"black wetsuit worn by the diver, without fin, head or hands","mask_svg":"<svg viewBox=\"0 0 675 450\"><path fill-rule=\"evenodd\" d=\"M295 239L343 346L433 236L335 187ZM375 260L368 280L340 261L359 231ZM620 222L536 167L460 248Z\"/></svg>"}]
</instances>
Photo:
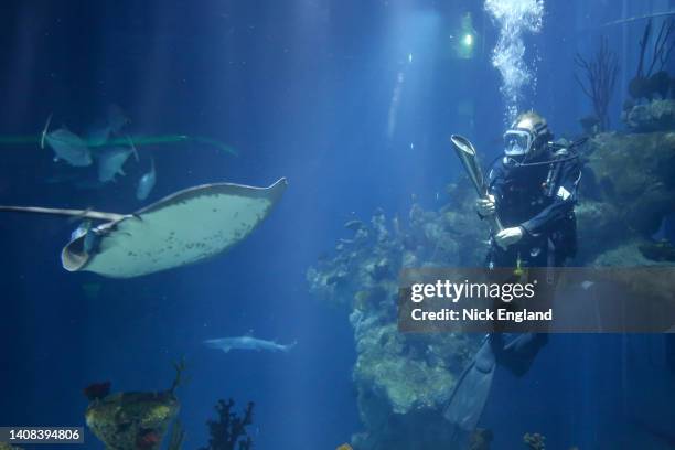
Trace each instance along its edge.
<instances>
[{"instance_id":1,"label":"black wetsuit worn by the diver, without fin, head or hands","mask_svg":"<svg viewBox=\"0 0 675 450\"><path fill-rule=\"evenodd\" d=\"M581 163L567 150L548 148L536 160L518 164L507 157L497 160L489 173L489 190L495 197L496 214L504 228L521 226L523 238L502 249L492 242L489 267L560 267L576 253L577 223L574 207L581 178ZM551 282L550 289L555 288ZM540 291L540 290L539 290ZM553 292L539 296L543 300ZM493 333L491 346L496 360L516 375L523 375L538 351L548 342L545 333L524 333L508 342Z\"/></svg>"}]
</instances>

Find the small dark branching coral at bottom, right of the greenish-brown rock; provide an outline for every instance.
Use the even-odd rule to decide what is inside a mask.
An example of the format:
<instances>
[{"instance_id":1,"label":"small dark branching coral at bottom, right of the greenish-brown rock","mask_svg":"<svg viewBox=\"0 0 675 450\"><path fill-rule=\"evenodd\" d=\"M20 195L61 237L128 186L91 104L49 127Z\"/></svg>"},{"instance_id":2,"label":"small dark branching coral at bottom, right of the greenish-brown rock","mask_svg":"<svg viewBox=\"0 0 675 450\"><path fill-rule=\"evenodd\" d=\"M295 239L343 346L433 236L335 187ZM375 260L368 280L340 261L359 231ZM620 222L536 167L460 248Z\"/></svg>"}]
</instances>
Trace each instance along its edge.
<instances>
[{"instance_id":1,"label":"small dark branching coral at bottom, right of the greenish-brown rock","mask_svg":"<svg viewBox=\"0 0 675 450\"><path fill-rule=\"evenodd\" d=\"M208 420L208 446L200 450L250 450L253 439L248 435L246 427L253 424L254 403L249 401L244 410L244 416L239 417L232 411L234 400L218 400L216 404L217 420Z\"/></svg>"}]
</instances>

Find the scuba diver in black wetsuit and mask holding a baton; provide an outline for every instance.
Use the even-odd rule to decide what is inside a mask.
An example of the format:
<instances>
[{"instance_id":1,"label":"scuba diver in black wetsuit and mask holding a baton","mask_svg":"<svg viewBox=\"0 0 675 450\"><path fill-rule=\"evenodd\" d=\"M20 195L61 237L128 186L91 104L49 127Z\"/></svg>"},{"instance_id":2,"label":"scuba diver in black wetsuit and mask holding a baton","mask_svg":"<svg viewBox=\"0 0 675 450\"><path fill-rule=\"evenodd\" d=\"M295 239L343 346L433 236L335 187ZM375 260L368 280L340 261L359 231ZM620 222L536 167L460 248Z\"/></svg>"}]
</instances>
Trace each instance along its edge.
<instances>
[{"instance_id":1,"label":"scuba diver in black wetsuit and mask holding a baton","mask_svg":"<svg viewBox=\"0 0 675 450\"><path fill-rule=\"evenodd\" d=\"M575 256L574 207L581 162L574 147L581 141L566 146L551 140L546 120L534 111L521 114L504 133L504 154L494 161L486 178L488 196L476 202L481 218L501 224L491 238L490 269L547 270ZM555 283L548 283L553 292ZM497 364L522 376L547 341L547 334L533 332L485 336L443 413L454 431L470 433L475 429Z\"/></svg>"}]
</instances>

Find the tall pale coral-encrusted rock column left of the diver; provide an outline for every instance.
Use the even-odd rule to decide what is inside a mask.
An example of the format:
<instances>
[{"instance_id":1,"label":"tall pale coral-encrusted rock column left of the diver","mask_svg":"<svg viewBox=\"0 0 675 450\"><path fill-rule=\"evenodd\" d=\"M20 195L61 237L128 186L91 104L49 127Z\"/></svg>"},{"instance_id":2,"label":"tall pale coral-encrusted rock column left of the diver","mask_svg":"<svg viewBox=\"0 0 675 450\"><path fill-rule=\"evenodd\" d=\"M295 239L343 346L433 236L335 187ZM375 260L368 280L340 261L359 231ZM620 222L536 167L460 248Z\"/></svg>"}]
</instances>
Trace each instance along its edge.
<instances>
[{"instance_id":1,"label":"tall pale coral-encrusted rock column left of the diver","mask_svg":"<svg viewBox=\"0 0 675 450\"><path fill-rule=\"evenodd\" d=\"M452 204L438 212L413 205L405 222L387 221L382 211L369 224L349 222L352 238L338 244L333 259L308 270L314 294L351 311L357 351L353 379L365 427L353 437L357 450L450 444L440 410L480 336L403 334L396 315L401 268L482 264L486 225L473 210L473 191L462 181L449 193Z\"/></svg>"}]
</instances>

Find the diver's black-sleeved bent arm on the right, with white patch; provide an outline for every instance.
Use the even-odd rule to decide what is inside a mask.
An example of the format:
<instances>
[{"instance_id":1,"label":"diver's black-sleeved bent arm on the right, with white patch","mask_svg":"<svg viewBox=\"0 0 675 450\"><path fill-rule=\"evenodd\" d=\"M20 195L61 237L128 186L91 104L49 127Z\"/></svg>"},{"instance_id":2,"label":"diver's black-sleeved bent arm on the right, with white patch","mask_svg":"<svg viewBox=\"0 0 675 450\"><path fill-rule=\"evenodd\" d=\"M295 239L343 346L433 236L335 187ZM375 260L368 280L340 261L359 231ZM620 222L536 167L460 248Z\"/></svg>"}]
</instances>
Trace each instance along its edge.
<instances>
[{"instance_id":1,"label":"diver's black-sleeved bent arm on the right, with white patch","mask_svg":"<svg viewBox=\"0 0 675 450\"><path fill-rule=\"evenodd\" d=\"M558 183L554 202L539 214L521 224L526 235L538 235L550 229L558 221L567 217L577 203L577 191L581 179L581 168L578 163L562 168L561 180Z\"/></svg>"}]
</instances>

